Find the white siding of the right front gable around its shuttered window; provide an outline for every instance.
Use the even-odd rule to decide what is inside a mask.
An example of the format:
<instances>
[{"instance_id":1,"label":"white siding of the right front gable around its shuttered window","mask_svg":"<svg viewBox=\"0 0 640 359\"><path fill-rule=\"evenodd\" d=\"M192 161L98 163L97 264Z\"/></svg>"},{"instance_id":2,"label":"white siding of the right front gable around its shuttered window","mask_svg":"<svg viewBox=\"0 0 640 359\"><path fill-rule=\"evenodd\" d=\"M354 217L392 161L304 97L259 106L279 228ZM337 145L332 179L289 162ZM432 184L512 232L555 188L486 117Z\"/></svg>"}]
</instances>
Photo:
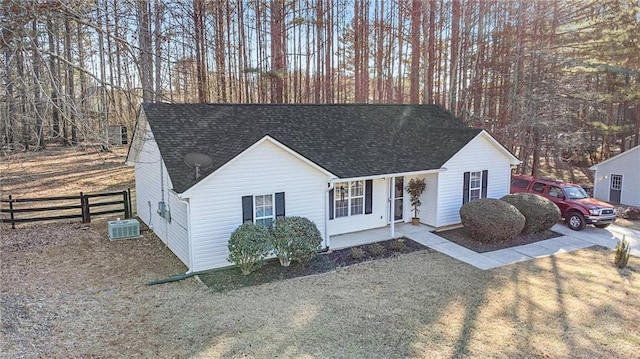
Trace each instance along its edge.
<instances>
[{"instance_id":1,"label":"white siding of the right front gable around its shuttered window","mask_svg":"<svg viewBox=\"0 0 640 359\"><path fill-rule=\"evenodd\" d=\"M436 227L460 223L464 172L488 170L487 197L500 198L509 193L509 158L480 134L456 153L443 167L437 181L438 208Z\"/></svg>"}]
</instances>

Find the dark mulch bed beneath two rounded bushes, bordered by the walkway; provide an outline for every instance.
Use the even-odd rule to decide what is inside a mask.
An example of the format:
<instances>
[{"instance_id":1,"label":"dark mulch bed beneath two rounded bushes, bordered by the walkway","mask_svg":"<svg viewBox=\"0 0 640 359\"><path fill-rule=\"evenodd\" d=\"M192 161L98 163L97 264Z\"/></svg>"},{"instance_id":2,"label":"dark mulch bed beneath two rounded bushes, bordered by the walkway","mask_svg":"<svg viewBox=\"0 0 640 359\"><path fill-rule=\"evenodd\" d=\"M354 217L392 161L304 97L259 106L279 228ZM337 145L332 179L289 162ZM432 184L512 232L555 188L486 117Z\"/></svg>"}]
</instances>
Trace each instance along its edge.
<instances>
[{"instance_id":1,"label":"dark mulch bed beneath two rounded bushes, bordered by the walkway","mask_svg":"<svg viewBox=\"0 0 640 359\"><path fill-rule=\"evenodd\" d=\"M497 251L499 249L511 248L515 246L522 246L529 243L535 243L544 241L545 239L551 239L562 236L560 233L554 231L544 231L540 233L532 234L520 234L513 239L503 241L499 243L482 243L469 236L463 227L450 229L447 231L434 232L434 234L445 238L453 243L459 244L467 249L471 249L476 253L485 253Z\"/></svg>"}]
</instances>

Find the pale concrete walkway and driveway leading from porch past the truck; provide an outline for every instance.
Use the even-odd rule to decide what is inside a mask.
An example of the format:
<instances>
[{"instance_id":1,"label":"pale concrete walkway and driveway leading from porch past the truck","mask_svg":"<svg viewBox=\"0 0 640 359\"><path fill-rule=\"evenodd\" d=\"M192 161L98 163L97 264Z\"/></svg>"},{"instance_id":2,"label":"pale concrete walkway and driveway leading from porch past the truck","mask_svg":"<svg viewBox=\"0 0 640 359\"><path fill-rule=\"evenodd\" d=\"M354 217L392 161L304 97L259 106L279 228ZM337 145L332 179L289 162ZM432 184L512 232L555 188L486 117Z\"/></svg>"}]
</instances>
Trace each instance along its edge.
<instances>
[{"instance_id":1,"label":"pale concrete walkway and driveway leading from porch past the truck","mask_svg":"<svg viewBox=\"0 0 640 359\"><path fill-rule=\"evenodd\" d=\"M595 245L614 249L623 234L630 242L631 254L640 256L640 231L615 224L606 229L588 226L579 232L572 231L563 224L556 224L551 229L563 234L561 237L486 253L476 253L432 232L425 231L420 226L414 228L404 226L402 229L405 237L480 269L497 268Z\"/></svg>"}]
</instances>

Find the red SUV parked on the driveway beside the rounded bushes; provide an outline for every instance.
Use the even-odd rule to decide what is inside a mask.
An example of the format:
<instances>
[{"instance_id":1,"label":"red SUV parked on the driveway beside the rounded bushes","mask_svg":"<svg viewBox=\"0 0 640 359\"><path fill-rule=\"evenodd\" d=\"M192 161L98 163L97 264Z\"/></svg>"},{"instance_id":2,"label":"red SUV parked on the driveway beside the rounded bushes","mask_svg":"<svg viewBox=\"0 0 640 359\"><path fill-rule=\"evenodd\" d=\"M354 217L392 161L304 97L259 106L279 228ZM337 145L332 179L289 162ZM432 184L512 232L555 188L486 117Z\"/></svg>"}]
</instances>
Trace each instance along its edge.
<instances>
[{"instance_id":1,"label":"red SUV parked on the driveway beside the rounded bushes","mask_svg":"<svg viewBox=\"0 0 640 359\"><path fill-rule=\"evenodd\" d=\"M589 197L585 190L576 184L513 175L511 193L518 192L535 193L551 200L560 208L567 226L575 231L583 230L587 224L605 228L616 220L612 205Z\"/></svg>"}]
</instances>

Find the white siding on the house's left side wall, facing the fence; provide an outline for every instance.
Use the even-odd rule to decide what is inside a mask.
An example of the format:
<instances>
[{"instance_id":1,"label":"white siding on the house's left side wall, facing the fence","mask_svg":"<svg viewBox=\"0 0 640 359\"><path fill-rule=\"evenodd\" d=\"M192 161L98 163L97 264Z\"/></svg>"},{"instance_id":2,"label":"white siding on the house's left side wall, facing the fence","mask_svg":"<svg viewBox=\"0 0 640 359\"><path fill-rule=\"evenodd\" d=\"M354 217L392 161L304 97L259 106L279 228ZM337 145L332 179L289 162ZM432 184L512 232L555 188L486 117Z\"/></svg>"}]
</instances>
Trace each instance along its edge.
<instances>
[{"instance_id":1,"label":"white siding on the house's left side wall, facing the fence","mask_svg":"<svg viewBox=\"0 0 640 359\"><path fill-rule=\"evenodd\" d=\"M138 217L171 249L180 260L189 266L187 206L180 203L169 190L171 180L160 159L160 151L149 134L135 164L136 211ZM161 174L162 173L162 174ZM164 198L163 196L164 190ZM158 215L158 202L165 201L171 222Z\"/></svg>"}]
</instances>

